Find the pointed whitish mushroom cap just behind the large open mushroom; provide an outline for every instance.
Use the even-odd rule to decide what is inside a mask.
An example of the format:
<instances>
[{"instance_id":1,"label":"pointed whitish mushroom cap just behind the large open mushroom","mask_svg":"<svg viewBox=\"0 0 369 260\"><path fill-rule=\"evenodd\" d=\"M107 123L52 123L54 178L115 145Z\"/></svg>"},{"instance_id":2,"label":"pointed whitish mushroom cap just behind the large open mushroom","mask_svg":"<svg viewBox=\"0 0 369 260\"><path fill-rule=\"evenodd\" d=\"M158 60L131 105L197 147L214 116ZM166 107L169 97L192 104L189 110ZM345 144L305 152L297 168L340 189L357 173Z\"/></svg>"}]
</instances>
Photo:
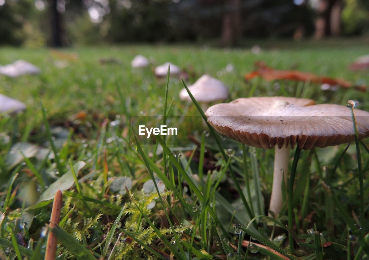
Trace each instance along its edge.
<instances>
[{"instance_id":1,"label":"pointed whitish mushroom cap just behind the large open mushroom","mask_svg":"<svg viewBox=\"0 0 369 260\"><path fill-rule=\"evenodd\" d=\"M199 102L212 102L228 97L228 89L223 82L209 75L201 76L194 84L188 87L193 97ZM179 92L179 98L183 101L191 101L185 88Z\"/></svg>"}]
</instances>

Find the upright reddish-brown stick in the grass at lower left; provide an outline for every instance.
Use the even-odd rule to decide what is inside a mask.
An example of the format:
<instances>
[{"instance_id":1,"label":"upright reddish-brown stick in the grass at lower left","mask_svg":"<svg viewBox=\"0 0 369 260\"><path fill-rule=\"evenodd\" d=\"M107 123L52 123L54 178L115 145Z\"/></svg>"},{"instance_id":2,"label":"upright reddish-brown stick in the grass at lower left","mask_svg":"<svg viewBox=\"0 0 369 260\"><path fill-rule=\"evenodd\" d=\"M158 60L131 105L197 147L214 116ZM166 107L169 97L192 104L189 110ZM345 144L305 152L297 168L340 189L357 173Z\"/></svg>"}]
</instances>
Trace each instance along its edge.
<instances>
[{"instance_id":1,"label":"upright reddish-brown stick in the grass at lower left","mask_svg":"<svg viewBox=\"0 0 369 260\"><path fill-rule=\"evenodd\" d=\"M52 211L50 217L50 228L54 228L54 224L59 224L60 212L62 210L62 191L57 190L55 193L54 203L52 204ZM46 244L45 260L55 260L56 243L58 239L52 231L49 232Z\"/></svg>"}]
</instances>

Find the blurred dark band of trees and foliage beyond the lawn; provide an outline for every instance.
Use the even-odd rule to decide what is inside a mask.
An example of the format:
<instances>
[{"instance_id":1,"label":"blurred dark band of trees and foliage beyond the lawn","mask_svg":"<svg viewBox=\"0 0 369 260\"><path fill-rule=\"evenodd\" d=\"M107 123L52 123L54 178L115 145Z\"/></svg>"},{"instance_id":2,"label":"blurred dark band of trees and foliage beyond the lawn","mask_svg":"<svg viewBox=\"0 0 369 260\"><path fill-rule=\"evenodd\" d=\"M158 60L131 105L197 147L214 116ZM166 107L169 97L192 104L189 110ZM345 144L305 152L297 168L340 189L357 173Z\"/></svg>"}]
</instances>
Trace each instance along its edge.
<instances>
[{"instance_id":1,"label":"blurred dark band of trees and foliage beyond the lawn","mask_svg":"<svg viewBox=\"0 0 369 260\"><path fill-rule=\"evenodd\" d=\"M0 44L70 46L369 34L368 0L0 0Z\"/></svg>"}]
</instances>

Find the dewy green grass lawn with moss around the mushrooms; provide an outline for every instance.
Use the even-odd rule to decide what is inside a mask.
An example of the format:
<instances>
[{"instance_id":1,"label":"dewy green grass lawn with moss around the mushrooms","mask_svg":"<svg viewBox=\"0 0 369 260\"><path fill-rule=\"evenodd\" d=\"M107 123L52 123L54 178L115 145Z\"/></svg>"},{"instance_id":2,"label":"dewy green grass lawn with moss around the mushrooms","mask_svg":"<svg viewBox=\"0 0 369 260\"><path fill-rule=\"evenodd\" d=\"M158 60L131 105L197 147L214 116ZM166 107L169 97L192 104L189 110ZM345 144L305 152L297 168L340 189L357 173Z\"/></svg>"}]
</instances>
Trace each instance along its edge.
<instances>
[{"instance_id":1,"label":"dewy green grass lawn with moss around the mushrooms","mask_svg":"<svg viewBox=\"0 0 369 260\"><path fill-rule=\"evenodd\" d=\"M189 71L187 85L210 74L229 87L226 102L296 96L345 105L352 99L369 111L368 91L243 78L262 60L369 85L368 71L348 69L368 54L367 45L261 46L258 55L206 46L61 50L77 59L48 49L0 48L0 64L24 59L41 69L40 75L0 76L0 93L27 105L21 114L0 117L0 259L44 257L57 189L64 190L61 222L53 229L57 259L368 259L368 140L360 145L361 162L355 143L301 151L293 216L286 191L284 210L268 218L273 150L223 136L218 146L196 106L179 100L182 82L170 78L166 94L166 79L153 73L170 61ZM132 69L138 54L155 65ZM156 140L161 145L137 143L130 120L155 124L165 120L164 111L178 136Z\"/></svg>"}]
</instances>

